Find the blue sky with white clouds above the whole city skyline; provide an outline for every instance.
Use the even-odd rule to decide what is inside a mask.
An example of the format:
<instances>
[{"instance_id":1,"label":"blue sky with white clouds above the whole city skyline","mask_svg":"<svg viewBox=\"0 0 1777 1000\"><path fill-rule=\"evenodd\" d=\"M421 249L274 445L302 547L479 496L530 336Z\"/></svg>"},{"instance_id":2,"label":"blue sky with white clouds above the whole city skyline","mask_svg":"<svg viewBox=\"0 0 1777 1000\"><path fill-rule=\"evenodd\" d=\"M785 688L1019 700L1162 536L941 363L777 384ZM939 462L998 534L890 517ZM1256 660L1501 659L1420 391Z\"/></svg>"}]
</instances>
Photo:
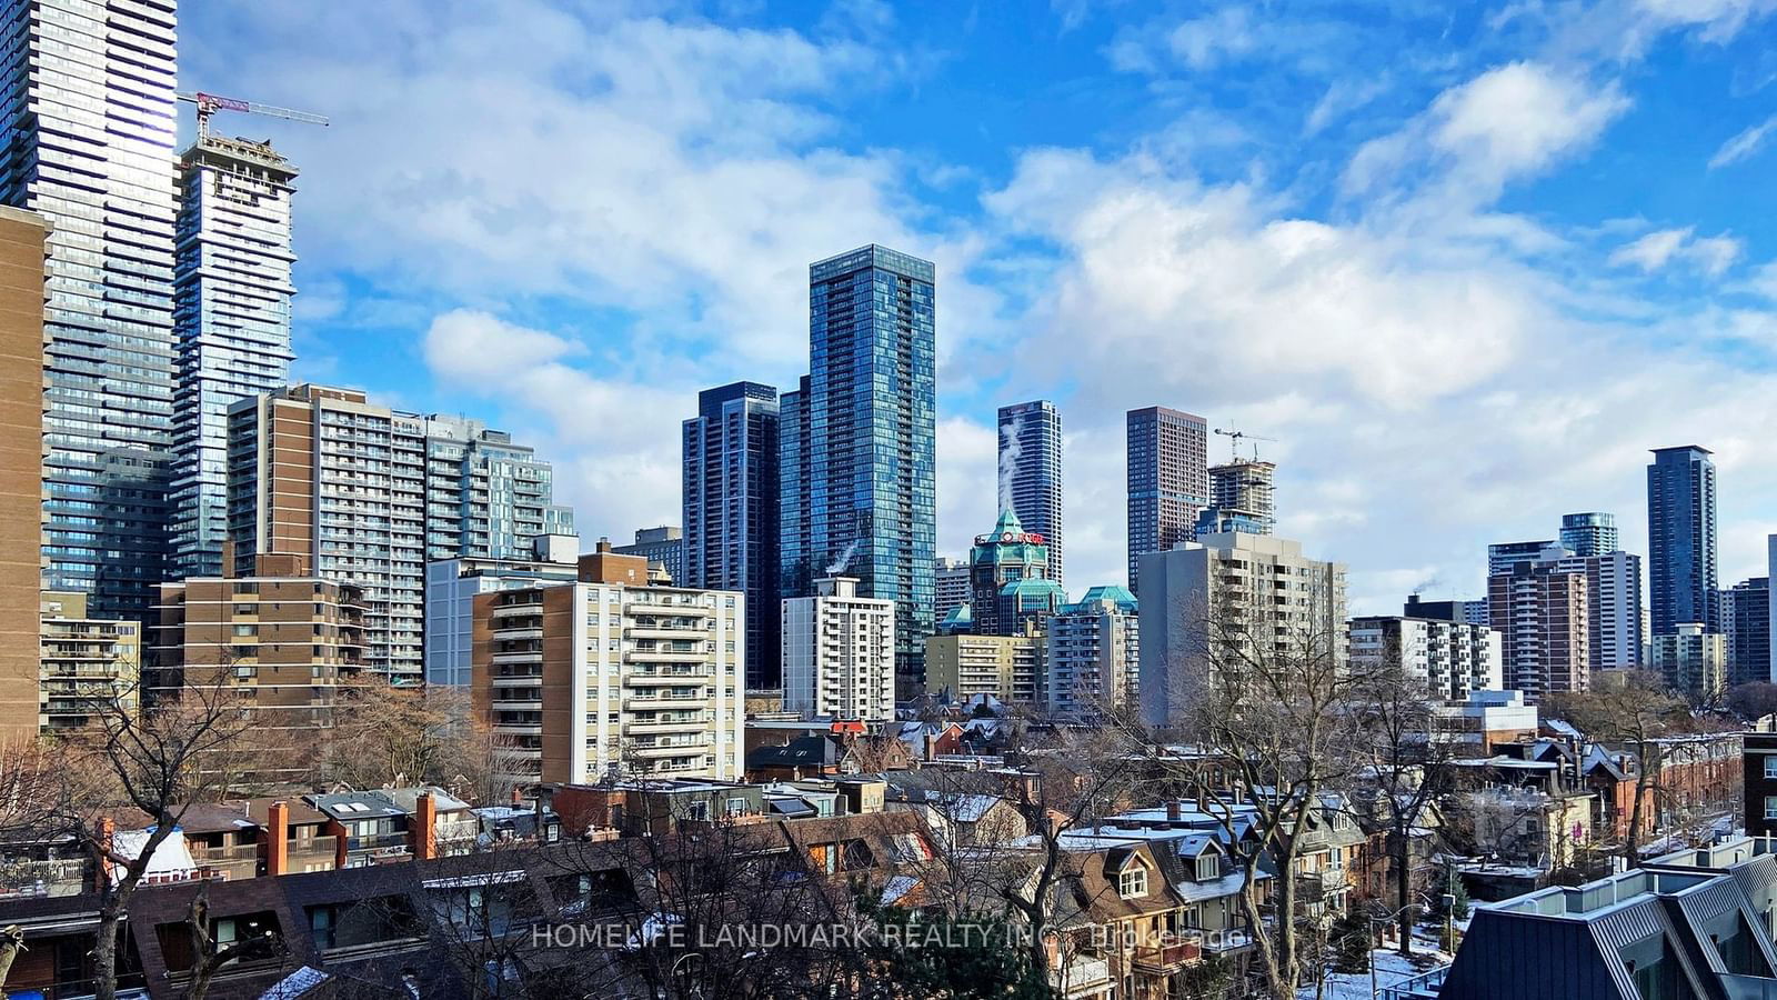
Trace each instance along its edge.
<instances>
[{"instance_id":1,"label":"blue sky with white clouds above the whole city skyline","mask_svg":"<svg viewBox=\"0 0 1777 1000\"><path fill-rule=\"evenodd\" d=\"M807 263L938 263L938 534L993 407L1068 427L1070 587L1123 566L1123 411L1278 438L1358 610L1722 468L1777 532L1777 0L188 4L181 87L302 167L297 372L483 416L583 536L677 521L698 388L793 384ZM188 126L188 123L187 123ZM1212 456L1223 454L1212 443Z\"/></svg>"}]
</instances>

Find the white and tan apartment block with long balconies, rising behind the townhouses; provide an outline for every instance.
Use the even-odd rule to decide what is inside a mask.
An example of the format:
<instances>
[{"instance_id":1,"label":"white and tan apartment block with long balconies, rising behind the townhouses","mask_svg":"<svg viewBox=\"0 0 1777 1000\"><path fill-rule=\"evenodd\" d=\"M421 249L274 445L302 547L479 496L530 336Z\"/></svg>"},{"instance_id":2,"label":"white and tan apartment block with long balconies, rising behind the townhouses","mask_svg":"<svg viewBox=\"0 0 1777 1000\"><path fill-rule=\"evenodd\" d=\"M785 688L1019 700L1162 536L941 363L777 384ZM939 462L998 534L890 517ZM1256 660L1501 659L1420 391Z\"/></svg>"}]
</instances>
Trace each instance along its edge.
<instances>
[{"instance_id":1,"label":"white and tan apartment block with long balconies, rising behind the townhouses","mask_svg":"<svg viewBox=\"0 0 1777 1000\"><path fill-rule=\"evenodd\" d=\"M745 769L736 591L554 584L474 598L478 715L510 778L709 778Z\"/></svg>"}]
</instances>

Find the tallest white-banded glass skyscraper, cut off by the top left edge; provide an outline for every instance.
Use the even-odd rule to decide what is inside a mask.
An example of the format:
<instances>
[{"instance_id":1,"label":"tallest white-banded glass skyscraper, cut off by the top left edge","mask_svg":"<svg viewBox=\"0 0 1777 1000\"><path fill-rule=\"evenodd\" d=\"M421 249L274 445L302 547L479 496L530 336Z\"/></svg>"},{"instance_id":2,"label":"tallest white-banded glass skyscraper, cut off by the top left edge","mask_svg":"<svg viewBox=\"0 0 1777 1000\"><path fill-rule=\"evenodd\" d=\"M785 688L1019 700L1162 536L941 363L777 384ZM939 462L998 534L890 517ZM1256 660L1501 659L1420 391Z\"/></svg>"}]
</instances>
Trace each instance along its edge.
<instances>
[{"instance_id":1,"label":"tallest white-banded glass skyscraper, cut off by the top left edge","mask_svg":"<svg viewBox=\"0 0 1777 1000\"><path fill-rule=\"evenodd\" d=\"M50 221L44 569L98 616L165 571L172 445L172 0L7 0L0 203Z\"/></svg>"}]
</instances>

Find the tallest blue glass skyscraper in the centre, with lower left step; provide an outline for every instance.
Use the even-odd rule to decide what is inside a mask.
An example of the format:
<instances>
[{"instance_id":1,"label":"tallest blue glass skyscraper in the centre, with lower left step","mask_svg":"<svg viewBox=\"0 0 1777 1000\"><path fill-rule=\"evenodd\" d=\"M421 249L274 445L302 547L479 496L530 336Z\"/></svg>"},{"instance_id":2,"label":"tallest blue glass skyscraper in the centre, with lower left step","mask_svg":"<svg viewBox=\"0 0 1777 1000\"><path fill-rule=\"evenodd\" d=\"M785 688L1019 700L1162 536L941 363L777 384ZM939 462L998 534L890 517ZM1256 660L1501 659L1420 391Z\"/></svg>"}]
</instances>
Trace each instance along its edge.
<instances>
[{"instance_id":1,"label":"tallest blue glass skyscraper in the centre, with lower left step","mask_svg":"<svg viewBox=\"0 0 1777 1000\"><path fill-rule=\"evenodd\" d=\"M896 601L904 696L933 633L931 262L871 244L809 267L809 383L784 395L778 422L784 596L844 575L860 596Z\"/></svg>"}]
</instances>

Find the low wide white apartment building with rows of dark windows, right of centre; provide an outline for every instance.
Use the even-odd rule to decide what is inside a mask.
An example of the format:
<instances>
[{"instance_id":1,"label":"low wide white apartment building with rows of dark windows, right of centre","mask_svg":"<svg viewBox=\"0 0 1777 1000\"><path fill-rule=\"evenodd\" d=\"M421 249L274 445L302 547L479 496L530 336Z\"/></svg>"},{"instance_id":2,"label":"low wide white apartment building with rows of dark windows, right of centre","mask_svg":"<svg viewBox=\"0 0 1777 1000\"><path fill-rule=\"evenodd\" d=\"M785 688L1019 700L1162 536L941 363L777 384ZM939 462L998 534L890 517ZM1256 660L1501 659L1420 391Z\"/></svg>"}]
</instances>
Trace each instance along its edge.
<instances>
[{"instance_id":1,"label":"low wide white apartment building with rows of dark windows, right of centre","mask_svg":"<svg viewBox=\"0 0 1777 1000\"><path fill-rule=\"evenodd\" d=\"M1486 625L1393 616L1351 619L1354 664L1388 664L1398 657L1407 676L1450 701L1468 701L1473 690L1500 690L1500 633Z\"/></svg>"}]
</instances>

